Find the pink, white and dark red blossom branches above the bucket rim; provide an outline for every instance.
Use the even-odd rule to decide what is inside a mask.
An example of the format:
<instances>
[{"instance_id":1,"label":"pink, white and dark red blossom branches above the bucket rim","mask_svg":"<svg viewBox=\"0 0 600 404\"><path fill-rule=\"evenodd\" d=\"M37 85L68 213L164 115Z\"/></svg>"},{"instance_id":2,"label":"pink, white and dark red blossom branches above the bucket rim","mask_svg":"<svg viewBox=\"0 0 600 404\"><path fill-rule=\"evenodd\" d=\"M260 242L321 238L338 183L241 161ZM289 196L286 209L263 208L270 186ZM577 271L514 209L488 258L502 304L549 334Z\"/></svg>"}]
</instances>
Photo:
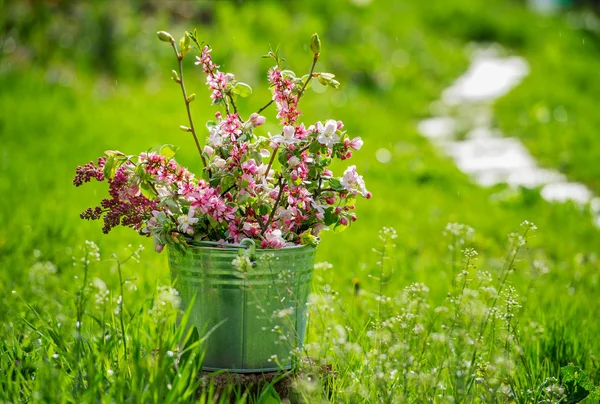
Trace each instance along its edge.
<instances>
[{"instance_id":1,"label":"pink, white and dark red blossom branches above the bucket rim","mask_svg":"<svg viewBox=\"0 0 600 404\"><path fill-rule=\"evenodd\" d=\"M205 164L202 175L180 166L171 145L137 156L108 151L97 164L77 169L76 186L106 180L110 196L81 217L103 218L105 233L117 225L132 227L152 236L157 251L166 244L185 248L193 242L245 238L261 248L316 244L321 230L355 221L355 198L371 193L356 166L338 177L329 166L334 159L352 157L362 140L350 137L338 120L299 122L298 103L308 80L318 74L296 78L273 55L276 65L268 72L272 100L243 119L234 100L249 95L249 86L219 71L210 52L204 46L196 65L206 74L212 103L225 111L207 123L204 147L197 142ZM175 81L182 84L178 75ZM266 121L260 112L272 103L281 129L260 133L257 128Z\"/></svg>"}]
</instances>

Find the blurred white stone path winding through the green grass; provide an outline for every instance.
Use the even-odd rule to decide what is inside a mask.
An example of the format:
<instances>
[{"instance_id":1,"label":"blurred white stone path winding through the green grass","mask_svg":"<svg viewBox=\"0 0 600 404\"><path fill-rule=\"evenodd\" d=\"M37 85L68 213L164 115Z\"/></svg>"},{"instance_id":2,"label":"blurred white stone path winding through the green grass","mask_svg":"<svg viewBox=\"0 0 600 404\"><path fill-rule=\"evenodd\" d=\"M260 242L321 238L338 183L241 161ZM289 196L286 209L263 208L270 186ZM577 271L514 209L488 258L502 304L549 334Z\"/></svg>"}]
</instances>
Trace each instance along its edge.
<instances>
[{"instance_id":1,"label":"blurred white stone path winding through the green grass","mask_svg":"<svg viewBox=\"0 0 600 404\"><path fill-rule=\"evenodd\" d=\"M519 139L492 127L493 102L529 73L520 57L502 57L498 47L473 52L471 66L435 102L436 116L421 121L419 132L452 157L460 170L482 186L542 187L550 202L590 204L600 227L600 198L555 170L538 167Z\"/></svg>"}]
</instances>

